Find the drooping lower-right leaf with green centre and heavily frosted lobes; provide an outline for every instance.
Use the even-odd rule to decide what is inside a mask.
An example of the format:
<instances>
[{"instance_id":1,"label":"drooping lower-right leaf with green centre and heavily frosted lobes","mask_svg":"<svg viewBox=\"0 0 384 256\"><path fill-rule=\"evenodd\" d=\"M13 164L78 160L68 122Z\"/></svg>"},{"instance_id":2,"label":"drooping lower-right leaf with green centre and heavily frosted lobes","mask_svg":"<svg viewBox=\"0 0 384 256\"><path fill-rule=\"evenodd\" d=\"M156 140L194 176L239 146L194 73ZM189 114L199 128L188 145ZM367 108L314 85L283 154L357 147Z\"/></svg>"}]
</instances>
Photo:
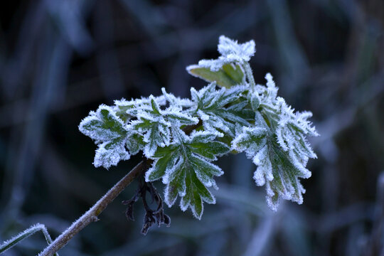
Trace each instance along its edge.
<instances>
[{"instance_id":1,"label":"drooping lower-right leaf with green centre and heavily frosted lobes","mask_svg":"<svg viewBox=\"0 0 384 256\"><path fill-rule=\"evenodd\" d=\"M276 136L268 134L266 128L243 127L233 140L233 149L245 151L257 165L253 178L257 186L266 185L267 203L272 210L277 210L279 198L302 203L305 191L299 178L311 174L302 161L279 146Z\"/></svg>"}]
</instances>

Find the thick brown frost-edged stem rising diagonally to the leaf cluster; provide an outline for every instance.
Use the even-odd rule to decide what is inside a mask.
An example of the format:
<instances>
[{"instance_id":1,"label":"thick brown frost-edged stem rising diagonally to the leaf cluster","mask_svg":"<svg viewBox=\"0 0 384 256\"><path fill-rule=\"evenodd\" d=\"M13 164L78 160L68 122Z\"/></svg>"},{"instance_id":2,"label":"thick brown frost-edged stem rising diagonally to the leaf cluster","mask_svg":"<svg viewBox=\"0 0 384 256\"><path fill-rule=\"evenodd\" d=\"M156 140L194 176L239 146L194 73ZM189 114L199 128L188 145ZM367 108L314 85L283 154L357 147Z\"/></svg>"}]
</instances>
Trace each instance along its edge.
<instances>
[{"instance_id":1,"label":"thick brown frost-edged stem rising diagonally to the leaf cluster","mask_svg":"<svg viewBox=\"0 0 384 256\"><path fill-rule=\"evenodd\" d=\"M143 174L146 169L149 168L151 160L144 159L141 161L132 171L124 176L119 182L117 182L111 189L108 191L102 198L100 198L97 203L95 203L90 210L84 213L78 220L76 220L70 227L65 230L61 235L58 236L46 249L39 254L39 256L50 256L55 252L64 247L74 235L78 234L80 230L85 228L88 224L99 220L97 218L102 211L107 208L107 206L112 203L114 198L119 196L124 188L126 188L129 183L134 181L140 174Z\"/></svg>"}]
</instances>

